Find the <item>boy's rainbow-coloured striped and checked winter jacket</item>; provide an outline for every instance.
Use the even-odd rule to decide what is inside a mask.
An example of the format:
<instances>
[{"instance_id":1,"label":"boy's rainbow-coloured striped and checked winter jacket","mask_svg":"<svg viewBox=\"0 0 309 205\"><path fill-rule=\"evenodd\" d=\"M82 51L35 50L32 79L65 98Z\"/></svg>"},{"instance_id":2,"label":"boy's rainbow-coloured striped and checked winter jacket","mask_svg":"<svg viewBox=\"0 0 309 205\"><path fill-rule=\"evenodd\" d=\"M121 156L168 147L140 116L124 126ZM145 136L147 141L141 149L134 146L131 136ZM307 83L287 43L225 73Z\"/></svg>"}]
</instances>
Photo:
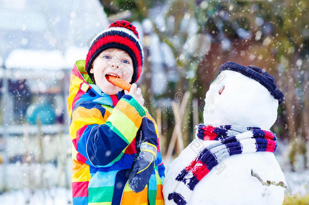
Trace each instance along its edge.
<instances>
[{"instance_id":1,"label":"boy's rainbow-coloured striped and checked winter jacket","mask_svg":"<svg viewBox=\"0 0 309 205\"><path fill-rule=\"evenodd\" d=\"M104 100L99 103L101 95L91 84L85 61L76 61L67 99L71 117L73 204L164 204L165 167L160 147L155 169L143 191L133 192L126 177L136 153L135 137L142 118L153 122L158 136L155 120L132 96L121 92L110 96L111 104Z\"/></svg>"}]
</instances>

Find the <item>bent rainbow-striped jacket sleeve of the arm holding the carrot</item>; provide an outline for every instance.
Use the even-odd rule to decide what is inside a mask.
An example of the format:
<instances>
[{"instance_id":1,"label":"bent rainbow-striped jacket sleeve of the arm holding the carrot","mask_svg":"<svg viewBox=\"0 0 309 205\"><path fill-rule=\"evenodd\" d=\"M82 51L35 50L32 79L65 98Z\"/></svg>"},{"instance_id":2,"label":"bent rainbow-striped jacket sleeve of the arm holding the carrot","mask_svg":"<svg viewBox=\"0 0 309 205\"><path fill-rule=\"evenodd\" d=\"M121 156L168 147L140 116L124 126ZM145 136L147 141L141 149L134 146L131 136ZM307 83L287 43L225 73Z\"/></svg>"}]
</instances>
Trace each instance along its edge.
<instances>
[{"instance_id":1,"label":"bent rainbow-striped jacket sleeve of the arm holding the carrot","mask_svg":"<svg viewBox=\"0 0 309 205\"><path fill-rule=\"evenodd\" d=\"M108 117L105 112L97 103L82 101L71 115L69 129L78 151L76 159L94 167L111 166L121 158L145 115L130 95L124 95Z\"/></svg>"}]
</instances>

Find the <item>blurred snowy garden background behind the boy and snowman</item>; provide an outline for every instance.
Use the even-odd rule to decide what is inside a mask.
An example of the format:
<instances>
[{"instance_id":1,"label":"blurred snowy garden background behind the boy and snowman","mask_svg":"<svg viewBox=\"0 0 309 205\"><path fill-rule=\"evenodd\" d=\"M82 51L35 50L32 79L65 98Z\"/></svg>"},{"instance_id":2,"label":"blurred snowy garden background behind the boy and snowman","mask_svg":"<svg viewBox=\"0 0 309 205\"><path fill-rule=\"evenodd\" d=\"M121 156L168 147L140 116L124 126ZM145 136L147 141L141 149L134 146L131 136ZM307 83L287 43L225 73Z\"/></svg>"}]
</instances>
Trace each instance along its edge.
<instances>
[{"instance_id":1,"label":"blurred snowy garden background behind the boy and snowman","mask_svg":"<svg viewBox=\"0 0 309 205\"><path fill-rule=\"evenodd\" d=\"M203 123L219 66L252 64L285 95L272 127L292 192L285 204L309 204L308 9L307 0L0 0L2 204L71 203L70 72L92 38L119 19L139 32L138 85L166 167Z\"/></svg>"}]
</instances>

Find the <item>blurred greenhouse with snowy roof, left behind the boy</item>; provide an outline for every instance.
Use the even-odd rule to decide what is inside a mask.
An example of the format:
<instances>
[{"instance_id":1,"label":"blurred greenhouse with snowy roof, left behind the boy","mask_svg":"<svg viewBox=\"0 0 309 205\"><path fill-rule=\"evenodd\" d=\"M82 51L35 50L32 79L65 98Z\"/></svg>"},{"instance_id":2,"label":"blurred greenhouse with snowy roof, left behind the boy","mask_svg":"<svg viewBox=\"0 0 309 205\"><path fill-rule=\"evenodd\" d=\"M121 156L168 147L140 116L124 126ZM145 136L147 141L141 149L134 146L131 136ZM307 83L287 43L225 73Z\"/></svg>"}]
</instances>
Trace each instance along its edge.
<instances>
[{"instance_id":1,"label":"blurred greenhouse with snowy roof, left behind the boy","mask_svg":"<svg viewBox=\"0 0 309 205\"><path fill-rule=\"evenodd\" d=\"M69 187L70 71L109 20L95 0L1 1L0 19L0 190Z\"/></svg>"}]
</instances>

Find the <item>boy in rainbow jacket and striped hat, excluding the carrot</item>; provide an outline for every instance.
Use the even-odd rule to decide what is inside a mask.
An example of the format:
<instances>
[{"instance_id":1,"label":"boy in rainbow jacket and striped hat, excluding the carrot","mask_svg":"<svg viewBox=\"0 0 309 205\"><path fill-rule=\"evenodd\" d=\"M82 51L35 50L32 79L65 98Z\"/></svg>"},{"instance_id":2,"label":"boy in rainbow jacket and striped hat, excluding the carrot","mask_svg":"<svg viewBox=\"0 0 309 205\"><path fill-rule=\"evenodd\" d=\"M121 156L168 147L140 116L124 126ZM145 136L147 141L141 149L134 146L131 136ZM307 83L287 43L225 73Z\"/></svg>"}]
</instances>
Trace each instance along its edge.
<instances>
[{"instance_id":1,"label":"boy in rainbow jacket and striped hat, excluding the carrot","mask_svg":"<svg viewBox=\"0 0 309 205\"><path fill-rule=\"evenodd\" d=\"M135 84L142 61L136 28L120 20L99 33L86 61L73 67L68 110L74 205L164 204L157 125ZM130 91L124 95L109 75L132 84Z\"/></svg>"}]
</instances>

